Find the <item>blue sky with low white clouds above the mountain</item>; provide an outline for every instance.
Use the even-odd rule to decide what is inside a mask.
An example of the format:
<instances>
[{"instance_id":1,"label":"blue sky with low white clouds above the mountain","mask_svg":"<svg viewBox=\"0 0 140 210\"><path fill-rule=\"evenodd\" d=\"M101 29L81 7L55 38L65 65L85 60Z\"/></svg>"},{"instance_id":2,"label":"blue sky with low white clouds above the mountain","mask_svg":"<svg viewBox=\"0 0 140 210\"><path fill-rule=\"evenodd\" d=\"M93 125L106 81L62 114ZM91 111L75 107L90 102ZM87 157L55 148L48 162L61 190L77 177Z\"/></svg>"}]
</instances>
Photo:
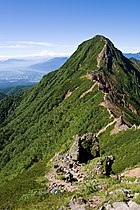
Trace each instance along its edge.
<instances>
[{"instance_id":1,"label":"blue sky with low white clouds above the mountain","mask_svg":"<svg viewBox=\"0 0 140 210\"><path fill-rule=\"evenodd\" d=\"M0 59L69 56L97 34L140 52L139 0L0 0Z\"/></svg>"}]
</instances>

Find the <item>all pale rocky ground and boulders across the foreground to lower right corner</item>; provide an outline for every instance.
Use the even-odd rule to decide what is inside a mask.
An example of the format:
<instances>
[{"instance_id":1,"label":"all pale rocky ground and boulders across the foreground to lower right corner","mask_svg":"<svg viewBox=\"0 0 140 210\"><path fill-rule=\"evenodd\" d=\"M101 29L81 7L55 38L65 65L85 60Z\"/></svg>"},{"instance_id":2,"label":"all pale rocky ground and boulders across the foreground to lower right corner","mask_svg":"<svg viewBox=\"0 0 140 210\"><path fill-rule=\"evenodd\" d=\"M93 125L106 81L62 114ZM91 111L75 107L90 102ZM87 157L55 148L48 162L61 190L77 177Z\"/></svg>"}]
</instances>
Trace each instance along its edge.
<instances>
[{"instance_id":1,"label":"all pale rocky ground and boulders across the foreground to lower right corner","mask_svg":"<svg viewBox=\"0 0 140 210\"><path fill-rule=\"evenodd\" d=\"M108 124L110 126L115 122ZM118 121L120 124L120 121ZM103 130L102 130L103 131ZM86 154L84 150L84 145L89 144L89 147L94 148L93 159L96 158L94 164L89 165L89 168L83 164L83 155ZM89 150L88 150L89 151ZM91 157L91 156L90 156ZM91 159L89 159L91 160ZM92 161L92 160L91 160ZM92 133L86 133L82 137L75 136L73 144L67 151L67 153L58 153L52 159L50 164L52 165L49 173L45 176L48 183L49 191L52 194L57 194L60 192L74 192L77 190L82 191L84 188L87 190L86 186L94 186L96 192L101 192L93 195L90 199L84 198L82 195L73 195L68 203L68 208L61 206L59 210L86 210L86 209L98 209L98 210L140 210L140 205L134 200L139 196L138 192L133 192L131 190L132 185L139 185L140 178L140 168L134 168L126 171L121 175L112 175L111 167L114 162L114 157L104 156L100 157L100 148L96 135ZM106 166L105 168L103 166ZM107 167L108 166L108 167ZM73 175L71 181L67 180L67 174L70 172ZM89 178L88 178L89 175ZM97 175L97 176L96 176ZM117 188L106 191L108 185L108 179L98 179L98 175L105 175L105 177L110 177L114 181L119 181L117 183ZM127 180L125 177L134 177L135 180ZM122 184L127 184L127 188L122 188ZM107 188L108 189L108 188ZM80 191L79 191L80 192ZM107 193L107 194L106 194ZM120 194L125 198L125 201L111 202L111 198ZM103 202L105 196L108 196L108 200Z\"/></svg>"}]
</instances>

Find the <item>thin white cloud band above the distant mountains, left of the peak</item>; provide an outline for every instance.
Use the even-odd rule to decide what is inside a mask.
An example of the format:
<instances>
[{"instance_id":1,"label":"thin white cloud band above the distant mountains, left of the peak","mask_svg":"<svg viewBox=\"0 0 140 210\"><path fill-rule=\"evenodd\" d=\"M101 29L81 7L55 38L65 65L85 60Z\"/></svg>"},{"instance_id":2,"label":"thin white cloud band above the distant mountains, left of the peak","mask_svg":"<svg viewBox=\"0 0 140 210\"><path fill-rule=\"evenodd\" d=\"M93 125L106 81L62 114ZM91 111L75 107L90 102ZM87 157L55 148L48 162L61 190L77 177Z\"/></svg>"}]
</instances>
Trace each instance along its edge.
<instances>
[{"instance_id":1,"label":"thin white cloud band above the distant mountains, left of the peak","mask_svg":"<svg viewBox=\"0 0 140 210\"><path fill-rule=\"evenodd\" d=\"M0 44L0 60L70 56L74 50L72 45L57 45L40 41L9 41Z\"/></svg>"}]
</instances>

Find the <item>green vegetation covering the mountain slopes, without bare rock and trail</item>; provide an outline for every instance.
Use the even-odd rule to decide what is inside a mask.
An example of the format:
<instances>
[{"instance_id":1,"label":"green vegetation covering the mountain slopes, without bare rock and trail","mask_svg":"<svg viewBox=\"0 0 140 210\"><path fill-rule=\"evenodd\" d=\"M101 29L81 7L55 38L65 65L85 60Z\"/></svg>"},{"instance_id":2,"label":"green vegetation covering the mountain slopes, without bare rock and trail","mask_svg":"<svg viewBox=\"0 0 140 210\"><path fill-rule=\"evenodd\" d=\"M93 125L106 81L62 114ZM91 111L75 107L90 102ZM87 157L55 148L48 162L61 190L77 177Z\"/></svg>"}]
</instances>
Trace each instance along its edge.
<instances>
[{"instance_id":1,"label":"green vegetation covering the mountain slopes, without bare rock and trail","mask_svg":"<svg viewBox=\"0 0 140 210\"><path fill-rule=\"evenodd\" d=\"M101 36L82 43L59 70L44 76L31 89L0 101L0 209L8 205L9 209L43 209L44 205L52 209L56 199L59 207L72 196L66 192L50 195L43 176L48 160L62 147L66 151L74 135L97 133L112 121L100 105L104 95L97 85L80 97L94 84L86 74L97 70L97 56L104 44ZM116 71L107 71L103 61L101 72L107 81L115 81L112 85L117 108L113 112L118 115L121 110L128 124L139 124L139 71L112 45L110 49ZM66 98L68 92L71 95ZM129 107L121 104L123 94ZM130 110L131 105L137 113ZM115 156L114 171L140 162L140 131L132 129L110 136L110 130L101 134L99 141L102 154ZM90 183L84 188L85 193L95 191Z\"/></svg>"}]
</instances>

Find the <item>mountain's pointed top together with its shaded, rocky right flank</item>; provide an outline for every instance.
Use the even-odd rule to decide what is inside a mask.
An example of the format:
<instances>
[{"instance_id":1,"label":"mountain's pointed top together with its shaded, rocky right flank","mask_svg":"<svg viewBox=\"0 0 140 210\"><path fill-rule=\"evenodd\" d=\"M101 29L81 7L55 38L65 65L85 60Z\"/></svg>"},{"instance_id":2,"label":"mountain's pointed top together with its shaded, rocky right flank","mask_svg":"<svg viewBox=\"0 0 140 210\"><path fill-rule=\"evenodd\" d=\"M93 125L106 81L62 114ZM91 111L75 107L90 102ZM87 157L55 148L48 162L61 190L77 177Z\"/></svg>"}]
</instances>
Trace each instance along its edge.
<instances>
[{"instance_id":1,"label":"mountain's pointed top together with its shaded, rocky right flank","mask_svg":"<svg viewBox=\"0 0 140 210\"><path fill-rule=\"evenodd\" d=\"M90 75L90 79L97 81L99 89L105 94L105 106L114 116L122 115L128 125L137 124L140 68L134 67L132 61L124 57L109 39L97 35L83 42L64 67Z\"/></svg>"}]
</instances>

